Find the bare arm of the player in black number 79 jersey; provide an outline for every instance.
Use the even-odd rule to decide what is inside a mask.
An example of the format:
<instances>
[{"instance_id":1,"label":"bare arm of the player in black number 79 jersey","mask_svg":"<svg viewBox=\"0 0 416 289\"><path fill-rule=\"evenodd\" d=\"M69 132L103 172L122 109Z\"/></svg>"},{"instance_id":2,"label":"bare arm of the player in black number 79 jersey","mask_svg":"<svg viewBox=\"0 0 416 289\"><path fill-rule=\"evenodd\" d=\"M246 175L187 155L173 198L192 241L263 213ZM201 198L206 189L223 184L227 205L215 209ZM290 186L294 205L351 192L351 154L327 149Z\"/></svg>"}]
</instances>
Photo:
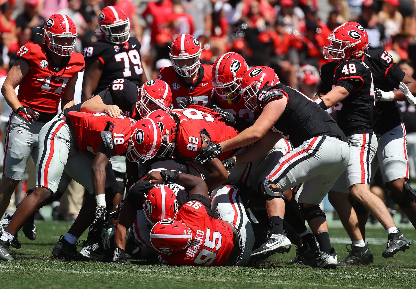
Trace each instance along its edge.
<instances>
[{"instance_id":1,"label":"bare arm of the player in black number 79 jersey","mask_svg":"<svg viewBox=\"0 0 416 289\"><path fill-rule=\"evenodd\" d=\"M81 101L89 99L97 89L102 75L102 63L99 59L89 59L85 63L84 79L82 80Z\"/></svg>"}]
</instances>

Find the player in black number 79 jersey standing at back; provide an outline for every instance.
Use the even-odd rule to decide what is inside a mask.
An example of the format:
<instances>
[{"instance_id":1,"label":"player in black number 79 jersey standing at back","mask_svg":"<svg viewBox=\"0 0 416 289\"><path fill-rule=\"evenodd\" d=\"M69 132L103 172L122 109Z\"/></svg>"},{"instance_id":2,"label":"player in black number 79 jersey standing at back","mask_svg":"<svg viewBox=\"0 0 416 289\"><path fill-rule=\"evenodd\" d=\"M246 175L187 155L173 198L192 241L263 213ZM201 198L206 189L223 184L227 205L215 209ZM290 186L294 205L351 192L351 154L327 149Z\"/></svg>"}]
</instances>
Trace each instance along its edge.
<instances>
[{"instance_id":1,"label":"player in black number 79 jersey standing at back","mask_svg":"<svg viewBox=\"0 0 416 289\"><path fill-rule=\"evenodd\" d=\"M130 37L130 20L116 6L107 6L98 15L103 39L84 48L85 72L81 99L104 90L114 79L125 78L137 86L146 82L141 63L141 44Z\"/></svg>"}]
</instances>

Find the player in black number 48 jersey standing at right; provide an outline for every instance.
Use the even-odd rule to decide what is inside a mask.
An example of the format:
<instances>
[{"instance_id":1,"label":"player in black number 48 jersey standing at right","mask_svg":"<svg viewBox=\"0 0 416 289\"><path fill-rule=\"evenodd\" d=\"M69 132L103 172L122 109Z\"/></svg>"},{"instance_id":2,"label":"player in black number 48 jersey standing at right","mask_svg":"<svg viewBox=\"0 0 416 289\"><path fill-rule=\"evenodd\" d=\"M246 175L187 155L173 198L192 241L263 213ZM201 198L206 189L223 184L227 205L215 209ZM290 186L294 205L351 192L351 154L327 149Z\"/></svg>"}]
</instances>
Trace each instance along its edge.
<instances>
[{"instance_id":1,"label":"player in black number 48 jersey standing at right","mask_svg":"<svg viewBox=\"0 0 416 289\"><path fill-rule=\"evenodd\" d=\"M361 27L362 28L362 27ZM358 224L357 215L348 202L348 195L362 203L387 230L388 245L383 257L392 257L399 250L409 248L410 242L397 230L384 203L371 193L371 162L377 150L373 133L374 82L368 65L362 62L368 46L366 33L354 25L341 25L328 37L324 57L334 62L321 67L323 84L316 102L322 107L335 106L337 121L348 137L351 164L329 192L329 200L340 215L353 242L354 254L360 254L359 264L373 262L373 256L359 230L348 224ZM325 84L332 78L331 86ZM334 85L331 90L330 87ZM358 227L358 226L357 226ZM355 228L357 228L355 227ZM395 241L398 238L400 241ZM351 264L351 257L339 265Z\"/></svg>"}]
</instances>

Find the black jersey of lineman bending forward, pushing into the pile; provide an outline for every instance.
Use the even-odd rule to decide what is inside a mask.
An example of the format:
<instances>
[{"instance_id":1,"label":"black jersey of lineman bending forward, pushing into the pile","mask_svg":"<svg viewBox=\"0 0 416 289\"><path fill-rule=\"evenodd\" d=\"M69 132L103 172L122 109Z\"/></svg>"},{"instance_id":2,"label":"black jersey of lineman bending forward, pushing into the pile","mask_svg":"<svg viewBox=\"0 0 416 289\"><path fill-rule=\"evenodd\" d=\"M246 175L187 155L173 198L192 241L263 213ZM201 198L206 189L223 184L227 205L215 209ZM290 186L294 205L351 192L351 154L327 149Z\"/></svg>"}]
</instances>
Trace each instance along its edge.
<instances>
[{"instance_id":1,"label":"black jersey of lineman bending forward, pushing into the pile","mask_svg":"<svg viewBox=\"0 0 416 289\"><path fill-rule=\"evenodd\" d=\"M298 147L314 136L332 136L346 141L344 133L326 111L296 89L283 84L265 86L258 93L258 106L262 110L271 101L287 97L286 108L273 129L290 139Z\"/></svg>"}]
</instances>

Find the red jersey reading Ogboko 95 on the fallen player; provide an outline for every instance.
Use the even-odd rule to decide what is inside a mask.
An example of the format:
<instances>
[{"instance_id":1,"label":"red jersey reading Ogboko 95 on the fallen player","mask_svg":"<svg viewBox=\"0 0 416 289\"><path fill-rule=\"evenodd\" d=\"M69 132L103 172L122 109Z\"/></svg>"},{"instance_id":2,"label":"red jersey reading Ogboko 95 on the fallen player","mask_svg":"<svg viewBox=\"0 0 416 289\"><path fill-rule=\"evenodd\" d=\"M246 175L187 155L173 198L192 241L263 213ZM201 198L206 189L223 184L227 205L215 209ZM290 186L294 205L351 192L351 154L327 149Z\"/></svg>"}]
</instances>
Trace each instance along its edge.
<instances>
[{"instance_id":1,"label":"red jersey reading Ogboko 95 on the fallen player","mask_svg":"<svg viewBox=\"0 0 416 289\"><path fill-rule=\"evenodd\" d=\"M191 245L181 252L160 254L163 265L221 266L225 263L234 247L233 230L227 222L210 217L198 200L183 205L175 220L191 229Z\"/></svg>"}]
</instances>

